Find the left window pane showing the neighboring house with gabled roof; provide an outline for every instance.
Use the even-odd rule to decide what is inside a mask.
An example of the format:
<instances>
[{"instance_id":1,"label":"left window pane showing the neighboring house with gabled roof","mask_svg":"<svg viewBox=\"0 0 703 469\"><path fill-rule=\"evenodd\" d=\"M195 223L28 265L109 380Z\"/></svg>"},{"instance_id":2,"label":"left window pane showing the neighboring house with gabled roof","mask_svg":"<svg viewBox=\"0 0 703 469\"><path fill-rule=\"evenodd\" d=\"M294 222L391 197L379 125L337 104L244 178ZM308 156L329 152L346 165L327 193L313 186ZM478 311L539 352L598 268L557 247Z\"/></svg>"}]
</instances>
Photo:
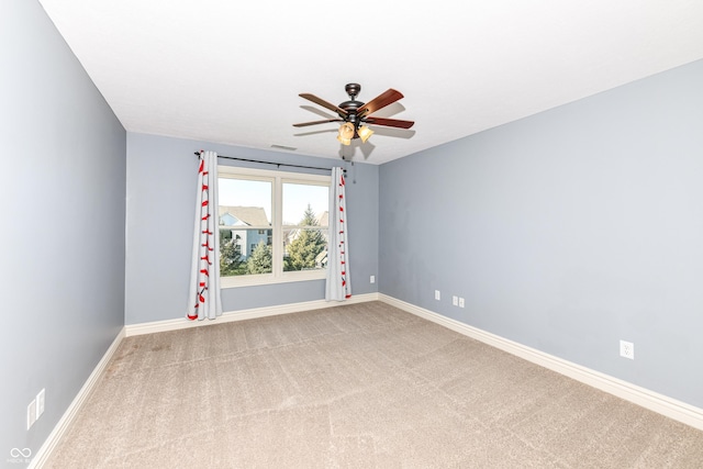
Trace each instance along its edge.
<instances>
[{"instance_id":1,"label":"left window pane showing the neighboring house with gabled roof","mask_svg":"<svg viewBox=\"0 0 703 469\"><path fill-rule=\"evenodd\" d=\"M271 181L220 178L220 275L271 273Z\"/></svg>"}]
</instances>

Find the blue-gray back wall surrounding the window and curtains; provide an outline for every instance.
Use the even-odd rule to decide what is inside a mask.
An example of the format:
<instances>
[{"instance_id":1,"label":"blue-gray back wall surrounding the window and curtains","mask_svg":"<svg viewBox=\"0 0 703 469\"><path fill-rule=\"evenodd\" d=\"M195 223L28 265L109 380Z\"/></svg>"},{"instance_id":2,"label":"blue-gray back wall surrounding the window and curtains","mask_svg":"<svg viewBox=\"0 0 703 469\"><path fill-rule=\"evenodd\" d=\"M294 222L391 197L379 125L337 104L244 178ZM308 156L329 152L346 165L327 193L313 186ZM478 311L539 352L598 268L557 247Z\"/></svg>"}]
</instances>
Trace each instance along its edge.
<instances>
[{"instance_id":1,"label":"blue-gray back wall surrounding the window and curtains","mask_svg":"<svg viewBox=\"0 0 703 469\"><path fill-rule=\"evenodd\" d=\"M352 293L377 291L378 283L370 284L369 276L378 275L378 166L352 166L336 158L129 133L126 324L186 316L198 174L193 152L198 149L264 161L346 167ZM234 165L235 161L221 159L221 164ZM238 164L277 169L268 165ZM281 167L280 170L295 169ZM323 280L222 291L225 312L322 299Z\"/></svg>"}]
</instances>

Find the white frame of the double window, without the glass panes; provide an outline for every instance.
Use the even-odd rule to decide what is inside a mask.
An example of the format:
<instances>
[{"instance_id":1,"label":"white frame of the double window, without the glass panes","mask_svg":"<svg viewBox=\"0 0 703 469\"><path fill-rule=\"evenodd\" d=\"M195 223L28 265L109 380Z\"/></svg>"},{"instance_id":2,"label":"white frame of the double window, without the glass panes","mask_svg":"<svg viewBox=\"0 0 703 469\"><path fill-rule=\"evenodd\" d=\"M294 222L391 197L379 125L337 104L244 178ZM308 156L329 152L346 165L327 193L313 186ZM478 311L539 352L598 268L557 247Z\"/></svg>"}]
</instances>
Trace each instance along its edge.
<instances>
[{"instance_id":1,"label":"white frame of the double window, without the glass panes","mask_svg":"<svg viewBox=\"0 0 703 469\"><path fill-rule=\"evenodd\" d=\"M309 186L326 186L330 188L332 176L306 175L302 172L272 171L266 169L238 168L234 166L217 166L219 178L252 179L271 182L271 273L253 273L245 276L221 277L220 288L252 287L260 284L276 284L284 282L322 280L326 278L327 269L283 271L283 183L302 183ZM327 212L330 208L327 206Z\"/></svg>"}]
</instances>

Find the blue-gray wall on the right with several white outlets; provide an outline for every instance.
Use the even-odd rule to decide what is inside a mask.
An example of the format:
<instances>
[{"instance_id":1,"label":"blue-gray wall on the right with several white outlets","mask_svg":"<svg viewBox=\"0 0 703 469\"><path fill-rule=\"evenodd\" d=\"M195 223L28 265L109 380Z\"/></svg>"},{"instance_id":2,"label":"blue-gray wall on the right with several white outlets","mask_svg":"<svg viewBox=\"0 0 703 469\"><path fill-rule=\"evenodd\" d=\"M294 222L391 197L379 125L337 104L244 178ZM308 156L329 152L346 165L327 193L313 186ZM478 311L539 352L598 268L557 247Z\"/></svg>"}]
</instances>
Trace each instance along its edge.
<instances>
[{"instance_id":1,"label":"blue-gray wall on the right with several white outlets","mask_svg":"<svg viewBox=\"0 0 703 469\"><path fill-rule=\"evenodd\" d=\"M703 62L383 165L379 277L703 406Z\"/></svg>"}]
</instances>

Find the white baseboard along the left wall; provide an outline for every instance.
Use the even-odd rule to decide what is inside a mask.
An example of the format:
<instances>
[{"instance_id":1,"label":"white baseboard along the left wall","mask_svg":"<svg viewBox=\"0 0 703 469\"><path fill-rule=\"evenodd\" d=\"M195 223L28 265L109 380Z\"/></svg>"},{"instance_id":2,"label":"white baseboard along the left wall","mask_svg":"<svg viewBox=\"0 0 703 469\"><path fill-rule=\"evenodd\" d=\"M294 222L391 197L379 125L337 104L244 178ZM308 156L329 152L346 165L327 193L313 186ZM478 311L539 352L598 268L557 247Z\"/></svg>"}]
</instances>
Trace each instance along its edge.
<instances>
[{"instance_id":1,"label":"white baseboard along the left wall","mask_svg":"<svg viewBox=\"0 0 703 469\"><path fill-rule=\"evenodd\" d=\"M86 402L86 399L88 399L88 395L98 383L100 377L102 376L102 372L108 367L108 364L112 359L112 356L114 355L114 353L118 350L118 347L120 346L120 343L122 342L123 338L124 338L124 327L120 330L120 333L114 338L114 340L112 340L112 344L110 344L110 347L108 347L108 350L104 353L100 361L98 361L98 365L92 370L92 372L83 383L82 388L80 388L80 391L78 391L78 394L76 394L76 398L74 398L68 409L66 409L66 412L64 412L64 415L62 415L62 418L58 421L58 423L56 424L52 433L48 435L48 437L46 438L46 440L44 442L40 450L36 451L36 454L34 455L34 458L32 459L32 462L30 462L29 468L31 469L41 468L46 464L49 456L52 455L52 451L56 448L62 437L64 436L64 433L66 433L70 423L74 421L74 418L78 414L78 411Z\"/></svg>"}]
</instances>

